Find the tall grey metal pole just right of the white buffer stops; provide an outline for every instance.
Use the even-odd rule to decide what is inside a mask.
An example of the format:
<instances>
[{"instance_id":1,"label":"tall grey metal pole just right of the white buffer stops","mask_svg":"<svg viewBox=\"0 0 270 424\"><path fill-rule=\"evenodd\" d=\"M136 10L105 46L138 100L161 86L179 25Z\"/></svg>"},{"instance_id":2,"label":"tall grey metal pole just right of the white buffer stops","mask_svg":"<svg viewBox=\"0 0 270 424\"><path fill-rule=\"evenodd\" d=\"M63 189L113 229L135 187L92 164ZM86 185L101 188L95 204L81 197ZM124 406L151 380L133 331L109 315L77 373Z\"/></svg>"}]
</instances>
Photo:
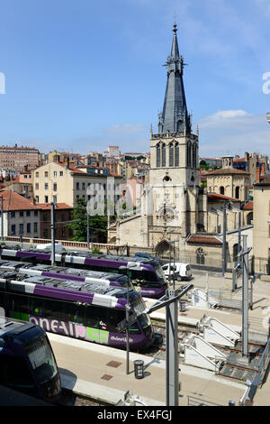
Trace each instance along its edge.
<instances>
[{"instance_id":1,"label":"tall grey metal pole just right of the white buffer stops","mask_svg":"<svg viewBox=\"0 0 270 424\"><path fill-rule=\"evenodd\" d=\"M242 255L242 356L248 357L248 251L247 235L243 235Z\"/></svg>"}]
</instances>

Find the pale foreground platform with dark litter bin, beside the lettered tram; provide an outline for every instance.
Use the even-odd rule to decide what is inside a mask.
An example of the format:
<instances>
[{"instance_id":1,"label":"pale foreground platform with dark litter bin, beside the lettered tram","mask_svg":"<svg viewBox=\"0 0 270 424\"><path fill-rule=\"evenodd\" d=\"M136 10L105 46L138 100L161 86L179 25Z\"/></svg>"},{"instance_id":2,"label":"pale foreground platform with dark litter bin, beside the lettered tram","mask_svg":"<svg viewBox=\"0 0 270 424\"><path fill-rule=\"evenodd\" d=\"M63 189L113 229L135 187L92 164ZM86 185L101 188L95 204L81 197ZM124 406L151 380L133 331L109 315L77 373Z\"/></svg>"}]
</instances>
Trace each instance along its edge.
<instances>
[{"instance_id":1,"label":"pale foreground platform with dark litter bin, beside the lettered tram","mask_svg":"<svg viewBox=\"0 0 270 424\"><path fill-rule=\"evenodd\" d=\"M96 401L115 405L125 392L138 395L147 406L166 406L166 362L130 353L130 373L126 373L124 350L48 333L58 362L62 387ZM133 362L144 361L144 378L136 379ZM207 370L180 365L179 406L193 401L228 405L238 401L245 384L231 382Z\"/></svg>"}]
</instances>

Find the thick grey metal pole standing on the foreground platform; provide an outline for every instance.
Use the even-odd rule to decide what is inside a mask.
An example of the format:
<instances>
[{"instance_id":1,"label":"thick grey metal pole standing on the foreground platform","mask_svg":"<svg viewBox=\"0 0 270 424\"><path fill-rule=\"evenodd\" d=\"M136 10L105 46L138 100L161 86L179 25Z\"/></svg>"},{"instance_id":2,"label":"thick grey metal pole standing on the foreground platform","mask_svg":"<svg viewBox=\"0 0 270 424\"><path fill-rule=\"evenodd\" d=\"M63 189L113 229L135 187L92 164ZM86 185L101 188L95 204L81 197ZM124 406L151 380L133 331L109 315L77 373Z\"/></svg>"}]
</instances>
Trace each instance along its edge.
<instances>
[{"instance_id":1,"label":"thick grey metal pole standing on the foreground platform","mask_svg":"<svg viewBox=\"0 0 270 424\"><path fill-rule=\"evenodd\" d=\"M166 290L168 299L179 290ZM178 406L178 300L166 305L166 406Z\"/></svg>"}]
</instances>

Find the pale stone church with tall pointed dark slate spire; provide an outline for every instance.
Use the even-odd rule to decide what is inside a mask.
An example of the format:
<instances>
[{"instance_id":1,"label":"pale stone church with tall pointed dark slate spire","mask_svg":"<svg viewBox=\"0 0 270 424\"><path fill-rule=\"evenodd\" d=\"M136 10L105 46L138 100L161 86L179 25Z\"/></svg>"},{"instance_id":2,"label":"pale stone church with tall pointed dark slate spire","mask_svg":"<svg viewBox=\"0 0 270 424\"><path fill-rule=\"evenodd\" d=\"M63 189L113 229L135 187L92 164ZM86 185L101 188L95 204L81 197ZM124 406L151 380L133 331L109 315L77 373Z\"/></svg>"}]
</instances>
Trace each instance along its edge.
<instances>
[{"instance_id":1,"label":"pale stone church with tall pointed dark slate spire","mask_svg":"<svg viewBox=\"0 0 270 424\"><path fill-rule=\"evenodd\" d=\"M128 244L130 254L145 251L168 257L174 251L175 260L183 261L185 254L198 263L198 255L204 254L220 262L222 236L208 226L207 190L199 187L199 134L193 134L187 111L176 25L173 31L164 106L157 134L151 129L150 170L139 213L109 226L108 243Z\"/></svg>"}]
</instances>

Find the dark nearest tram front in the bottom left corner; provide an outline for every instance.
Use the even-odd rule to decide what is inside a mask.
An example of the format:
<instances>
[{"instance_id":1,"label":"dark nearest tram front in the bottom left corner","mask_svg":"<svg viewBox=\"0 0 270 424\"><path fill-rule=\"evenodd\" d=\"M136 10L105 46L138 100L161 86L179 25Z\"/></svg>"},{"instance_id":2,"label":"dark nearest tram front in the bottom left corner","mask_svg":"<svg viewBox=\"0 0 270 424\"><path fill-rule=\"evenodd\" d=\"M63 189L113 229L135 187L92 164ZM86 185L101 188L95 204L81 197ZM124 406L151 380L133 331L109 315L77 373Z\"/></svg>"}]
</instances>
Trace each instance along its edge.
<instances>
[{"instance_id":1,"label":"dark nearest tram front in the bottom left corner","mask_svg":"<svg viewBox=\"0 0 270 424\"><path fill-rule=\"evenodd\" d=\"M40 326L0 317L0 385L49 403L58 401L58 365Z\"/></svg>"}]
</instances>

